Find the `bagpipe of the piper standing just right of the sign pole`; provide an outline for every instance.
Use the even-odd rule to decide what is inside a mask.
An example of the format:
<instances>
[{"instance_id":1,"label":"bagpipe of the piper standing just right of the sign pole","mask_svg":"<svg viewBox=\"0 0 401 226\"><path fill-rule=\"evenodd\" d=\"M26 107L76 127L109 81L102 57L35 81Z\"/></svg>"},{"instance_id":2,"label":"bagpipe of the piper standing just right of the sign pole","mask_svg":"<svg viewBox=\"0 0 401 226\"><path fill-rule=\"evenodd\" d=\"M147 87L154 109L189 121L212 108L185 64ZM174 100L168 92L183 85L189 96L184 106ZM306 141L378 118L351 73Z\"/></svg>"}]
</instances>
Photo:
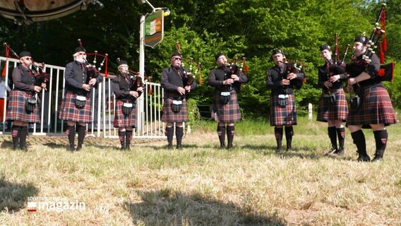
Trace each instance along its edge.
<instances>
[{"instance_id":1,"label":"bagpipe of the piper standing just right of the sign pole","mask_svg":"<svg viewBox=\"0 0 401 226\"><path fill-rule=\"evenodd\" d=\"M181 54L181 45L179 42L176 42L176 49L179 54ZM185 62L188 62L188 69L185 68ZM193 68L195 68L195 71L192 73ZM184 72L182 76L182 81L184 83L184 86L186 85L192 85L193 82L195 81L195 77L193 74L198 74L198 84L201 85L203 83L202 81L202 76L200 74L200 62L196 62L193 60L192 57L190 58L185 58L181 57L181 70Z\"/></svg>"}]
</instances>

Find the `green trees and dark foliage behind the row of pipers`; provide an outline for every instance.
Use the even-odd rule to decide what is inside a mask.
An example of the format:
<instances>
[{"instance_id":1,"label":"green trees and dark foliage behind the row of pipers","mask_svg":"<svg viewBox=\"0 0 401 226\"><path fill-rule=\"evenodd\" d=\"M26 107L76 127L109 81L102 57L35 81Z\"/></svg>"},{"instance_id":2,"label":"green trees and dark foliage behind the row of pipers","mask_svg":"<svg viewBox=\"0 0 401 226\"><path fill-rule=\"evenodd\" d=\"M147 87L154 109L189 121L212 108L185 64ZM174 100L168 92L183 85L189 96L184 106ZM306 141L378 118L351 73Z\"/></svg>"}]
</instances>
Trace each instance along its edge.
<instances>
[{"instance_id":1,"label":"green trees and dark foliage behind the row of pipers","mask_svg":"<svg viewBox=\"0 0 401 226\"><path fill-rule=\"evenodd\" d=\"M385 1L386 61L401 59L400 1ZM213 89L207 85L208 73L215 67L214 55L225 52L227 57L246 57L249 83L239 95L246 118L268 115L270 91L265 88L265 71L273 62L270 52L283 49L287 59L305 62L307 82L297 90L297 107L302 114L308 103L317 105L321 90L317 88L317 67L323 64L318 47L333 45L339 35L340 57L345 46L356 35L371 34L381 2L364 0L151 0L152 6L167 7L171 14L164 18L164 40L155 49L145 49L145 73L152 81L160 81L169 57L181 44L186 58L201 62L203 85L191 95L196 105L210 105ZM77 11L71 15L33 23L14 25L0 18L0 40L16 52L28 49L37 61L65 65L71 61L76 40L83 40L88 51L109 54L109 71L116 72L116 59L126 59L131 69L139 65L140 15L150 13L148 5L132 0L103 0L104 8ZM350 49L346 61L352 55ZM4 54L1 54L4 55ZM396 66L395 81L386 83L393 105L401 107L400 69Z\"/></svg>"}]
</instances>

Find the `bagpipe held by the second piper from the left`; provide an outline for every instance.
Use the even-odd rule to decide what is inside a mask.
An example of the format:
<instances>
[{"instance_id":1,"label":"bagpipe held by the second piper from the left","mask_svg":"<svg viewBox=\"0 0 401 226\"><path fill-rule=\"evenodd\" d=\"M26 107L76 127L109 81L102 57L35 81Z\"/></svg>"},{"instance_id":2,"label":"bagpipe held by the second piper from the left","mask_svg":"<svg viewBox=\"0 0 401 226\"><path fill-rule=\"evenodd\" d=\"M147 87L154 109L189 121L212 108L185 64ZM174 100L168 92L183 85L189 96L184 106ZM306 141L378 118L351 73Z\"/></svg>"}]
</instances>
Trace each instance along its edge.
<instances>
[{"instance_id":1,"label":"bagpipe held by the second piper from the left","mask_svg":"<svg viewBox=\"0 0 401 226\"><path fill-rule=\"evenodd\" d=\"M78 39L78 44L80 47L83 48L82 45L82 40ZM83 48L85 49L85 48ZM98 53L96 50L94 52L85 52L86 56L93 56L93 64L90 64L88 59L84 58L84 64L85 67L87 69L87 78L86 78L86 84L89 83L89 81L92 78L97 78L98 76L104 76L105 78L107 78L108 75L108 71L107 71L107 61L108 61L108 54L100 54ZM100 62L100 66L96 67L96 63L97 63L97 57L102 57L102 61ZM104 66L104 73L100 73L100 71L102 70L102 67ZM97 83L95 83L94 87L97 88Z\"/></svg>"}]
</instances>

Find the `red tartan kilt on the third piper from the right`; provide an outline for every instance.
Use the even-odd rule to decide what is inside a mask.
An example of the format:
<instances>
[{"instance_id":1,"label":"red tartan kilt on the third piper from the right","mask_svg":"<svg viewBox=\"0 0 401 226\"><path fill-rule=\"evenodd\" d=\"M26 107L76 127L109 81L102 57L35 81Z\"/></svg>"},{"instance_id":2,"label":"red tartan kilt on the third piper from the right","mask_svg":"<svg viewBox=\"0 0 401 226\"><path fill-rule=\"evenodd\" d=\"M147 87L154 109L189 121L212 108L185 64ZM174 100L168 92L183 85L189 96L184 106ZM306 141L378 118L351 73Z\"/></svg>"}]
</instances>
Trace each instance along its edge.
<instances>
[{"instance_id":1,"label":"red tartan kilt on the third piper from the right","mask_svg":"<svg viewBox=\"0 0 401 226\"><path fill-rule=\"evenodd\" d=\"M278 105L278 95L271 96L270 104L270 126L297 125L294 94L288 95L288 105L286 107Z\"/></svg>"}]
</instances>

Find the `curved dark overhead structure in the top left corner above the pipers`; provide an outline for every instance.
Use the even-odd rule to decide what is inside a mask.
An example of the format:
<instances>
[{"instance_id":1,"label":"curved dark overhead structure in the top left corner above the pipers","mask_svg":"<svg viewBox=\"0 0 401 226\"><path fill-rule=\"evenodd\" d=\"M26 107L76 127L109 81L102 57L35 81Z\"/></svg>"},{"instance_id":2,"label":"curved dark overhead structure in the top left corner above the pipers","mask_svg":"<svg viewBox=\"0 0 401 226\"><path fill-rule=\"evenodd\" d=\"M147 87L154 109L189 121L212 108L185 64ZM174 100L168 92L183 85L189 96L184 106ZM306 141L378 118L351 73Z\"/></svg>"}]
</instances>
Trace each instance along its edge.
<instances>
[{"instance_id":1,"label":"curved dark overhead structure in the top left corner above the pipers","mask_svg":"<svg viewBox=\"0 0 401 226\"><path fill-rule=\"evenodd\" d=\"M30 25L85 10L89 4L98 9L104 7L99 0L1 0L0 14L18 25Z\"/></svg>"}]
</instances>

